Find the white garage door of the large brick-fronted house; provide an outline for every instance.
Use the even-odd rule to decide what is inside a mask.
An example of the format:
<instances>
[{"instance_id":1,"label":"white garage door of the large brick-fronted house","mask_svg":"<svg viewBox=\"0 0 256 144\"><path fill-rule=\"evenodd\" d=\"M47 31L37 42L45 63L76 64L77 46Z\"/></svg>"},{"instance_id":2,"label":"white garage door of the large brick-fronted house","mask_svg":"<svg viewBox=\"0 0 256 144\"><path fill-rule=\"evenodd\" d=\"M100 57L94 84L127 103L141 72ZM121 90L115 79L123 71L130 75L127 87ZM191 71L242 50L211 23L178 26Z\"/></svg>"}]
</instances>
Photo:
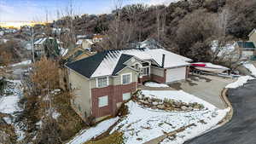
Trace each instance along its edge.
<instances>
[{"instance_id":1,"label":"white garage door of the large brick-fronted house","mask_svg":"<svg viewBox=\"0 0 256 144\"><path fill-rule=\"evenodd\" d=\"M166 83L171 83L186 78L186 67L178 67L166 70Z\"/></svg>"}]
</instances>

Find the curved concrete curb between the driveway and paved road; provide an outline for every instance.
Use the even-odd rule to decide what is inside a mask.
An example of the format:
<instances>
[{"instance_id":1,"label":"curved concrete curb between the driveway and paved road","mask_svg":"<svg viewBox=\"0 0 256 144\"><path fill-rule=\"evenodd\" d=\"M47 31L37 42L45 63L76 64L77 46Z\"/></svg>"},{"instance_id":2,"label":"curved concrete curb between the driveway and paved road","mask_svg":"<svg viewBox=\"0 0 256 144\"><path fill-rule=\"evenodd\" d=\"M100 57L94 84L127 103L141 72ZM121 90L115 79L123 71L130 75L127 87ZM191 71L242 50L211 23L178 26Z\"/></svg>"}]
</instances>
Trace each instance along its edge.
<instances>
[{"instance_id":1,"label":"curved concrete curb between the driveway and paved road","mask_svg":"<svg viewBox=\"0 0 256 144\"><path fill-rule=\"evenodd\" d=\"M233 117L233 113L234 113L234 110L233 110L233 107L227 97L227 91L228 89L227 88L224 88L222 91L221 91L221 95L220 95L220 98L222 101L224 101L226 107L230 107L230 112L228 112L226 114L226 116L220 121L218 122L218 125L219 126L223 126L224 124L227 124L228 122L230 122L230 120L232 119Z\"/></svg>"}]
</instances>

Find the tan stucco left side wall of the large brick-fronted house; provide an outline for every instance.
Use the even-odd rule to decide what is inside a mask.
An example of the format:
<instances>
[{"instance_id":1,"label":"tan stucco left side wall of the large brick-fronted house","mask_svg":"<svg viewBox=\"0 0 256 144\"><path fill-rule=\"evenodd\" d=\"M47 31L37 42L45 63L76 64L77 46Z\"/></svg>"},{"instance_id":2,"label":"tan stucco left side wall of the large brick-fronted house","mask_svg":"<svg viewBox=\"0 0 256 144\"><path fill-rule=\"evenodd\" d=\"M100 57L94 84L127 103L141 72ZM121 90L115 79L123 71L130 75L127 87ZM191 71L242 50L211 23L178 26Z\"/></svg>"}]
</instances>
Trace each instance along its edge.
<instances>
[{"instance_id":1,"label":"tan stucco left side wall of the large brick-fronted house","mask_svg":"<svg viewBox=\"0 0 256 144\"><path fill-rule=\"evenodd\" d=\"M69 83L74 89L74 99L72 101L73 107L84 118L85 112L87 116L91 114L90 106L90 80L84 78L72 70L69 70Z\"/></svg>"}]
</instances>

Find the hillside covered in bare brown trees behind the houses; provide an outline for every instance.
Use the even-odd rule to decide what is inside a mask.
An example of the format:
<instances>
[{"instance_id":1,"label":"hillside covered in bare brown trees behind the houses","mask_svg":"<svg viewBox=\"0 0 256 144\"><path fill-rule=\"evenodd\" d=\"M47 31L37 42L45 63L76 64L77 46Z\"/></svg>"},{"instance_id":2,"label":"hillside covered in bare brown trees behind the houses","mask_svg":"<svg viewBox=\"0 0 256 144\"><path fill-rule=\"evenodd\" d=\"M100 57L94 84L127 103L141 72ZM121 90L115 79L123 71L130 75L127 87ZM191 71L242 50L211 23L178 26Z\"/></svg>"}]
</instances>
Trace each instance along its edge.
<instances>
[{"instance_id":1,"label":"hillside covered in bare brown trees behind the houses","mask_svg":"<svg viewBox=\"0 0 256 144\"><path fill-rule=\"evenodd\" d=\"M212 40L246 39L256 27L254 0L183 0L169 6L127 5L111 14L76 16L78 35L108 35L105 49L122 49L127 43L154 37L167 49L194 60L211 60ZM66 20L57 20L65 26ZM66 21L67 23L67 21ZM119 39L114 39L118 36ZM116 42L115 42L116 41ZM124 41L124 42L123 42Z\"/></svg>"}]
</instances>

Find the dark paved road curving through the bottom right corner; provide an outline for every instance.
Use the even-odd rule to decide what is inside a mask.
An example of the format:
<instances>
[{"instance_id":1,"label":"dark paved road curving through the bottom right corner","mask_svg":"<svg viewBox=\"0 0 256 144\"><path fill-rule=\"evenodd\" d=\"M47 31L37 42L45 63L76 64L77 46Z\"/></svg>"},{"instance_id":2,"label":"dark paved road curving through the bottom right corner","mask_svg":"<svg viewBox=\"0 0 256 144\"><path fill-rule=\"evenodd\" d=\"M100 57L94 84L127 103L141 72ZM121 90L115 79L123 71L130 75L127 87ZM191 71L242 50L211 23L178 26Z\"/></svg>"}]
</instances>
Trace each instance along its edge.
<instances>
[{"instance_id":1,"label":"dark paved road curving through the bottom right corner","mask_svg":"<svg viewBox=\"0 0 256 144\"><path fill-rule=\"evenodd\" d=\"M228 95L234 107L230 123L185 144L256 144L256 80Z\"/></svg>"}]
</instances>

